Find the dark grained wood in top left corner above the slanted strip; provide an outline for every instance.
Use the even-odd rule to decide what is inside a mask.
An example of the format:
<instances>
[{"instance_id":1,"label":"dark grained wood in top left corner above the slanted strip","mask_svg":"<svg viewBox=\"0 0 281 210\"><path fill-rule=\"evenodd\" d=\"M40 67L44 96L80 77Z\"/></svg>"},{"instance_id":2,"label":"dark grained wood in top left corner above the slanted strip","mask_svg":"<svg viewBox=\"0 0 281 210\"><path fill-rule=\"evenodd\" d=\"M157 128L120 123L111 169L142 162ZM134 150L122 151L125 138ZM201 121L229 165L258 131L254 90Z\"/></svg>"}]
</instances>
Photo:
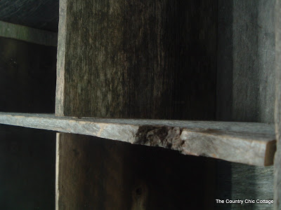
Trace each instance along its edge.
<instances>
[{"instance_id":1,"label":"dark grained wood in top left corner above the slanted strip","mask_svg":"<svg viewBox=\"0 0 281 210\"><path fill-rule=\"evenodd\" d=\"M1 0L0 20L57 32L58 4L59 0Z\"/></svg>"}]
</instances>

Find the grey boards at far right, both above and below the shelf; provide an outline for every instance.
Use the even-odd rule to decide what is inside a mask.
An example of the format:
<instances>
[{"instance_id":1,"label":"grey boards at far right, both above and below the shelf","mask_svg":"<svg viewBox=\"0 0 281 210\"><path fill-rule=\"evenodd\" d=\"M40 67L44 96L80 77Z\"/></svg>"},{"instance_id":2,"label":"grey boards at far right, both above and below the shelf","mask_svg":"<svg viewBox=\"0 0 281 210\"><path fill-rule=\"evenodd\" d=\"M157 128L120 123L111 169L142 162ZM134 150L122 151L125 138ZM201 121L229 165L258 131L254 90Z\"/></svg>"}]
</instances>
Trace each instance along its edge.
<instances>
[{"instance_id":1,"label":"grey boards at far right, both above and below the shelf","mask_svg":"<svg viewBox=\"0 0 281 210\"><path fill-rule=\"evenodd\" d=\"M274 123L274 9L275 0L218 1L216 120ZM273 166L217 163L216 197L273 200ZM241 208L271 210L273 204L216 204Z\"/></svg>"}]
</instances>

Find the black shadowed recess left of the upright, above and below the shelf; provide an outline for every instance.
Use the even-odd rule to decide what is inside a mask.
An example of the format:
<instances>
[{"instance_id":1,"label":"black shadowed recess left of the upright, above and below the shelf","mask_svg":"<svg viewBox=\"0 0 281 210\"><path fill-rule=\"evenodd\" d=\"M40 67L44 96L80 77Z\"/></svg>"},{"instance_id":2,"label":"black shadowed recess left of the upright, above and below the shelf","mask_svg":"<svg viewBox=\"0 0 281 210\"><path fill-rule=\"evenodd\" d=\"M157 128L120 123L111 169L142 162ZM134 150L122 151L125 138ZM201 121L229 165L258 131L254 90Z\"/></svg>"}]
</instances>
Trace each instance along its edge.
<instances>
[{"instance_id":1,"label":"black shadowed recess left of the upright, above and below the shelf","mask_svg":"<svg viewBox=\"0 0 281 210\"><path fill-rule=\"evenodd\" d=\"M56 48L0 38L0 110L54 113ZM0 125L0 209L55 208L55 132Z\"/></svg>"}]
</instances>

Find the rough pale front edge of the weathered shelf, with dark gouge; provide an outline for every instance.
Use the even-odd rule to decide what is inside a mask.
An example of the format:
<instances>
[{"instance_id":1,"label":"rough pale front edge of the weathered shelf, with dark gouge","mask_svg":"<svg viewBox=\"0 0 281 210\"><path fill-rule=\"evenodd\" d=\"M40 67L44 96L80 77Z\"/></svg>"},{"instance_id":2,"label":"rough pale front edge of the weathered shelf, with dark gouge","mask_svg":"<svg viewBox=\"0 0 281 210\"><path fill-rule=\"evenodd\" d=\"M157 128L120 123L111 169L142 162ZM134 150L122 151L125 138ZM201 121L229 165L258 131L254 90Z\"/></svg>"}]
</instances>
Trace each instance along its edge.
<instances>
[{"instance_id":1,"label":"rough pale front edge of the weathered shelf, with dark gouge","mask_svg":"<svg viewBox=\"0 0 281 210\"><path fill-rule=\"evenodd\" d=\"M275 152L274 134L268 136L268 134L244 134L244 132L202 128L185 129L170 126L86 122L74 118L48 117L48 115L42 117L37 114L34 116L30 114L27 116L0 115L0 123L84 134L131 144L160 146L180 151L184 155L207 156L249 165L270 165ZM269 144L269 142L271 143Z\"/></svg>"}]
</instances>

